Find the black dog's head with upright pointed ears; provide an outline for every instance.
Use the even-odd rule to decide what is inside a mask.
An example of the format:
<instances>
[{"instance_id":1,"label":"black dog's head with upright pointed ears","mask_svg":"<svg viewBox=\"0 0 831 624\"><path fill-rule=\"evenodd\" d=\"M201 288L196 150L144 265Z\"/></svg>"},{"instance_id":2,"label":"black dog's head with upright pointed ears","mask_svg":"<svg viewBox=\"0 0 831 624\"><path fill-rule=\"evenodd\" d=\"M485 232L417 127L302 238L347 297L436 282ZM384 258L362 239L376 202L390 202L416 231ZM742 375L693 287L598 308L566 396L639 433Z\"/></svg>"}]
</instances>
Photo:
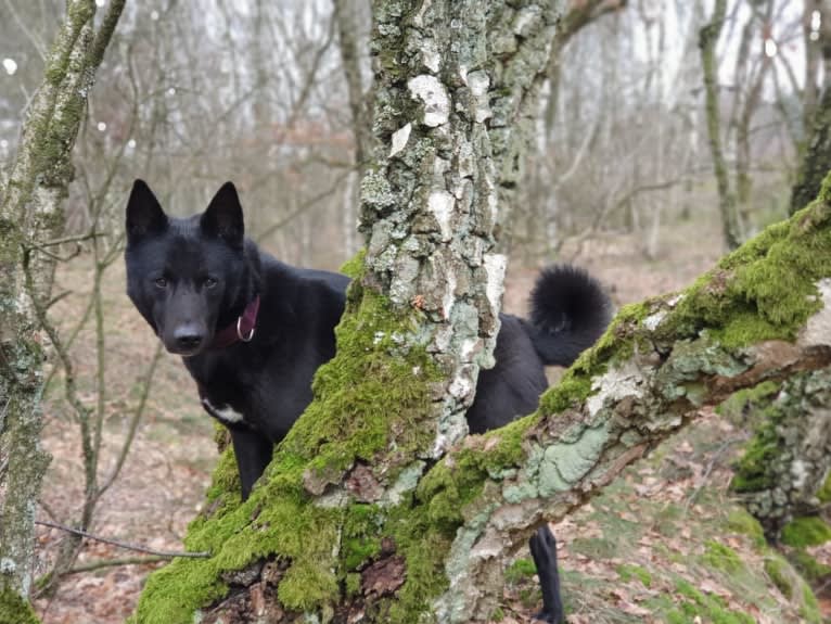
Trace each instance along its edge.
<instances>
[{"instance_id":1,"label":"black dog's head with upright pointed ears","mask_svg":"<svg viewBox=\"0 0 831 624\"><path fill-rule=\"evenodd\" d=\"M193 356L251 296L242 206L227 182L201 215L169 217L142 180L127 202L127 294L167 351Z\"/></svg>"}]
</instances>

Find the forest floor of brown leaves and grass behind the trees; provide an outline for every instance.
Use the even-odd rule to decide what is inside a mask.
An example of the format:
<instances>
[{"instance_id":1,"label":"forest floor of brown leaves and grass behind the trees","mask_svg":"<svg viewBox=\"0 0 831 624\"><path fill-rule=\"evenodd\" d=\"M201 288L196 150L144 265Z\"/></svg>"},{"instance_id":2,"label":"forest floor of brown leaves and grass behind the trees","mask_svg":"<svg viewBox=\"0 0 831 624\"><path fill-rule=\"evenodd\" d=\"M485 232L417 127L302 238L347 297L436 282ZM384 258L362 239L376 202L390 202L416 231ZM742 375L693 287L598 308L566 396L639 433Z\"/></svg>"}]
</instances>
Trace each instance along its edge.
<instances>
[{"instance_id":1,"label":"forest floor of brown leaves and grass behind the trees","mask_svg":"<svg viewBox=\"0 0 831 624\"><path fill-rule=\"evenodd\" d=\"M617 235L588 241L575 262L596 275L619 305L691 283L720 256L719 243L715 224L686 222L667 234L656 259L644 259L632 237ZM59 270L56 292L69 294L53 307L52 317L64 331L84 314L89 276L85 258ZM507 311L524 311L535 276L534 269L511 268ZM104 281L106 397L100 480L112 470L127 436L141 379L156 349L156 339L130 305L118 263ZM90 405L99 385L92 326L87 323L72 348L79 395ZM62 381L55 375L44 403L44 444L52 463L38 517L72 524L84 498L84 461L79 426L63 400ZM554 526L572 624L804 621L798 600L783 596L765 574L769 555L727 492L729 463L741 441L741 433L724 419L705 412L685 433L627 469L602 496ZM214 425L199 405L194 384L178 358L164 354L124 469L99 501L90 532L153 549L181 550L216 458ZM59 530L39 527L41 572L49 569L63 537ZM739 563L729 552L738 555ZM138 556L86 539L76 566ZM519 557L508 571L499 613L508 624L529 622L539 607L533 570L522 552ZM54 596L39 599L38 611L46 624L124 622L144 578L157 565L80 571ZM736 613L751 620L737 619Z\"/></svg>"}]
</instances>

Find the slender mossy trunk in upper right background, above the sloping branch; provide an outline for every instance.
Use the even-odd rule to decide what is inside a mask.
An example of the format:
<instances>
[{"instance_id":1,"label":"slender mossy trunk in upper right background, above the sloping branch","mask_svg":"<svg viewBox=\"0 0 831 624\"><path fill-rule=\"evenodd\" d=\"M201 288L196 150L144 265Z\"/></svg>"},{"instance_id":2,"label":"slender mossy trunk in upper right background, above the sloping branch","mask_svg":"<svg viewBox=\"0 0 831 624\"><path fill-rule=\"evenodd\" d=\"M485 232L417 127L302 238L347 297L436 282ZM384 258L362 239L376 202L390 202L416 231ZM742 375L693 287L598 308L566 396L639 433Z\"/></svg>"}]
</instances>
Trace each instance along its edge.
<instances>
[{"instance_id":1,"label":"slender mossy trunk in upper right background, above the sloping branch","mask_svg":"<svg viewBox=\"0 0 831 624\"><path fill-rule=\"evenodd\" d=\"M716 0L709 22L699 33L699 48L701 49L701 65L704 72L707 133L709 136L713 168L716 174L716 186L718 188L721 230L727 249L734 250L741 244L741 232L739 231L736 194L730 188L730 176L721 148L721 112L718 97L718 58L716 55L716 46L721 35L726 15L727 0Z\"/></svg>"}]
</instances>

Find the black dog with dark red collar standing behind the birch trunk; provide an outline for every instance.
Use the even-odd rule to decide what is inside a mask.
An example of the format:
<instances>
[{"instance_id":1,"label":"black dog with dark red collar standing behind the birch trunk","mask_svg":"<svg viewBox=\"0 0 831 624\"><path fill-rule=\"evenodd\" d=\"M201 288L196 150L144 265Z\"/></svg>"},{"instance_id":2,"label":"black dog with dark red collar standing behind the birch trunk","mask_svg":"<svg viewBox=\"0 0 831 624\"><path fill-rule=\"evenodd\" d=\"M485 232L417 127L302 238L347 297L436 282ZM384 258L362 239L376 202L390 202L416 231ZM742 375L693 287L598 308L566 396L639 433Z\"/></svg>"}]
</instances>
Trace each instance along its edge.
<instances>
[{"instance_id":1,"label":"black dog with dark red collar standing behind the birch trunk","mask_svg":"<svg viewBox=\"0 0 831 624\"><path fill-rule=\"evenodd\" d=\"M137 180L125 258L133 304L165 347L183 357L205 410L230 430L246 498L273 445L311 402L315 371L334 356L348 278L260 252L244 237L230 182L203 214L178 219ZM609 317L609 300L585 272L544 271L530 320L501 315L496 366L480 374L470 431L534 411L548 385L544 366L572 364Z\"/></svg>"}]
</instances>

